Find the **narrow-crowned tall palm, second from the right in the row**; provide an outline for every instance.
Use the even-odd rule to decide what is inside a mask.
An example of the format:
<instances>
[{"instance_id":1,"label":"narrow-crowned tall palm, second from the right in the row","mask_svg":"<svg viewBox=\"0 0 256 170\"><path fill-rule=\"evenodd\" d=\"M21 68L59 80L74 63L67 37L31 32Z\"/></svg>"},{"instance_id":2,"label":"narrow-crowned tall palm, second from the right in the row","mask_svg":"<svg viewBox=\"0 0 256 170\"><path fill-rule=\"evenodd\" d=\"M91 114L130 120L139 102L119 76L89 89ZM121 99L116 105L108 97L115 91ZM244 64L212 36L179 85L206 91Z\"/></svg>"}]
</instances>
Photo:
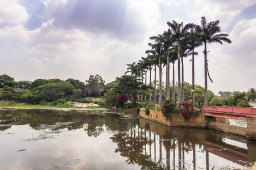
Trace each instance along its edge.
<instances>
[{"instance_id":1,"label":"narrow-crowned tall palm, second from the right in the row","mask_svg":"<svg viewBox=\"0 0 256 170\"><path fill-rule=\"evenodd\" d=\"M191 36L188 41L188 49L192 50L192 105L195 107L195 48L202 45L199 32L195 31L195 27L191 28Z\"/></svg>"}]
</instances>

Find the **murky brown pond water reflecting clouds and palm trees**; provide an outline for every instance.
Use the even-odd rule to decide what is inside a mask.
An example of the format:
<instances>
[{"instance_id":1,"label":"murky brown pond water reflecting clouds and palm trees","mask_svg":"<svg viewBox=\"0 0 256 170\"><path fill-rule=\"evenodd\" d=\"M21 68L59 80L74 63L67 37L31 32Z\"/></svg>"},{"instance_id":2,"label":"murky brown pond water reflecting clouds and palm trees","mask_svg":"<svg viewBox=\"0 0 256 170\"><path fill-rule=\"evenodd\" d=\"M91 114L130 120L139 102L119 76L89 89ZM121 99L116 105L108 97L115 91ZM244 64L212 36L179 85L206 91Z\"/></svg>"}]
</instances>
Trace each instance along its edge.
<instances>
[{"instance_id":1,"label":"murky brown pond water reflecting clouds and palm trees","mask_svg":"<svg viewBox=\"0 0 256 170\"><path fill-rule=\"evenodd\" d=\"M106 111L0 110L0 169L250 169L255 142Z\"/></svg>"}]
</instances>

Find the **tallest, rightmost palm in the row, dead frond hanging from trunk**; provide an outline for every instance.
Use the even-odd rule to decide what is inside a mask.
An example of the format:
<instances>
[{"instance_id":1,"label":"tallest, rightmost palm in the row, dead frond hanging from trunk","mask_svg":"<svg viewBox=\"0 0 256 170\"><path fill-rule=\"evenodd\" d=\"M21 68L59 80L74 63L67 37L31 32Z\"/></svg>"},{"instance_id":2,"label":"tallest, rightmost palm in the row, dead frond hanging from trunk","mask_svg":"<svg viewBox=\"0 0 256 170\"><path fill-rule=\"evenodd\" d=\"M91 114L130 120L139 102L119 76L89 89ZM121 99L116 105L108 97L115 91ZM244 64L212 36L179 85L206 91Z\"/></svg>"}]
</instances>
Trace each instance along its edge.
<instances>
[{"instance_id":1,"label":"tallest, rightmost palm in the row, dead frond hanging from trunk","mask_svg":"<svg viewBox=\"0 0 256 170\"><path fill-rule=\"evenodd\" d=\"M208 84L207 84L207 75L208 72L208 60L207 60L207 44L211 44L213 42L217 42L222 45L222 41L228 42L229 44L232 42L227 37L229 36L226 33L220 33L221 28L218 26L220 23L219 20L212 21L207 23L205 16L201 18L201 26L196 26L196 31L200 32L201 41L204 42L204 105L208 105ZM219 34L217 34L219 33ZM210 76L209 76L210 79ZM211 79L210 79L211 80ZM212 80L211 80L212 81Z\"/></svg>"}]
</instances>

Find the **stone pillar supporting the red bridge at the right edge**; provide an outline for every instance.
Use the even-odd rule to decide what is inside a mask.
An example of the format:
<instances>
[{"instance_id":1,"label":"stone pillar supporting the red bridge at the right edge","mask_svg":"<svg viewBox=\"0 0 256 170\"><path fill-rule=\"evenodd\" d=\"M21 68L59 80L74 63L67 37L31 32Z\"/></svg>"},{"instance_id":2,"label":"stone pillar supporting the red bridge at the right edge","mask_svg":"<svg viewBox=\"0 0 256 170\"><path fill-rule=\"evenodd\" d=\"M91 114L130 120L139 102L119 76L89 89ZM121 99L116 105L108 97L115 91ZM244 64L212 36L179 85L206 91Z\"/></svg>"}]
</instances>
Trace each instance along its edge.
<instances>
[{"instance_id":1,"label":"stone pillar supporting the red bridge at the right edge","mask_svg":"<svg viewBox=\"0 0 256 170\"><path fill-rule=\"evenodd\" d=\"M246 139L251 141L256 141L256 117L247 116L247 130L246 130Z\"/></svg>"}]
</instances>

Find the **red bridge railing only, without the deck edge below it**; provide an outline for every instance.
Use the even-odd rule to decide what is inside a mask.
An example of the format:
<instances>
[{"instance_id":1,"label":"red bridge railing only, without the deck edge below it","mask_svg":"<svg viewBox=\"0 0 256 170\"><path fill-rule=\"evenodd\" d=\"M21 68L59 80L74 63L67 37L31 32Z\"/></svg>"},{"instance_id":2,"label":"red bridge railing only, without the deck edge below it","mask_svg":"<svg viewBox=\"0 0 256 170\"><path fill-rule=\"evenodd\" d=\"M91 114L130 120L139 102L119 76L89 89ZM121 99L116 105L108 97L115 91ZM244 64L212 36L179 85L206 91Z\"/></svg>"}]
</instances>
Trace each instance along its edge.
<instances>
[{"instance_id":1,"label":"red bridge railing only, without the deck edge below it","mask_svg":"<svg viewBox=\"0 0 256 170\"><path fill-rule=\"evenodd\" d=\"M256 108L204 106L203 111L209 113L236 114L240 116L256 116Z\"/></svg>"}]
</instances>

